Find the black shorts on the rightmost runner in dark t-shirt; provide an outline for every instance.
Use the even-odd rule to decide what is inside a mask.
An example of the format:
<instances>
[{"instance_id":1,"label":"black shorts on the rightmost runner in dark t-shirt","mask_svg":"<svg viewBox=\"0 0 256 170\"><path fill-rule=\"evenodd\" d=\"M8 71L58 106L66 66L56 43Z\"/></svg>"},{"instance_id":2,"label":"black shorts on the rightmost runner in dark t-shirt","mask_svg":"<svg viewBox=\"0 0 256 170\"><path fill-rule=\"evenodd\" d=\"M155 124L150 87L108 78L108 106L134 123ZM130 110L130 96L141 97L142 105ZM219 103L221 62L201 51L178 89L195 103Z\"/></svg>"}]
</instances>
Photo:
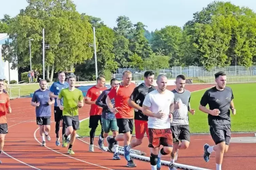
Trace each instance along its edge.
<instances>
[{"instance_id":1,"label":"black shorts on the rightmost runner in dark t-shirt","mask_svg":"<svg viewBox=\"0 0 256 170\"><path fill-rule=\"evenodd\" d=\"M229 145L231 139L231 125L214 125L210 126L211 137L215 144L225 142Z\"/></svg>"}]
</instances>

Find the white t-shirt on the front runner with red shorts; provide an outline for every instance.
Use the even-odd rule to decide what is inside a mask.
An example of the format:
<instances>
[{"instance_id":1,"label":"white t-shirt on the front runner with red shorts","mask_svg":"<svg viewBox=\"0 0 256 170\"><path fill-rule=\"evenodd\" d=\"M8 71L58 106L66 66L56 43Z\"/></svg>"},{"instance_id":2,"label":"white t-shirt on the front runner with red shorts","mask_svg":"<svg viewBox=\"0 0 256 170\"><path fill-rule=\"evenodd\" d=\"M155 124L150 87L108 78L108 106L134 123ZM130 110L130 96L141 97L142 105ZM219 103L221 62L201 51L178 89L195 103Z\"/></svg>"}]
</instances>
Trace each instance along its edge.
<instances>
[{"instance_id":1,"label":"white t-shirt on the front runner with red shorts","mask_svg":"<svg viewBox=\"0 0 256 170\"><path fill-rule=\"evenodd\" d=\"M160 94L157 90L151 91L145 97L143 102L144 106L150 108L150 111L157 113L162 110L165 113L163 119L158 119L154 117L148 118L148 128L152 129L168 129L170 125L170 105L174 102L174 94L170 90L165 90L165 93Z\"/></svg>"}]
</instances>

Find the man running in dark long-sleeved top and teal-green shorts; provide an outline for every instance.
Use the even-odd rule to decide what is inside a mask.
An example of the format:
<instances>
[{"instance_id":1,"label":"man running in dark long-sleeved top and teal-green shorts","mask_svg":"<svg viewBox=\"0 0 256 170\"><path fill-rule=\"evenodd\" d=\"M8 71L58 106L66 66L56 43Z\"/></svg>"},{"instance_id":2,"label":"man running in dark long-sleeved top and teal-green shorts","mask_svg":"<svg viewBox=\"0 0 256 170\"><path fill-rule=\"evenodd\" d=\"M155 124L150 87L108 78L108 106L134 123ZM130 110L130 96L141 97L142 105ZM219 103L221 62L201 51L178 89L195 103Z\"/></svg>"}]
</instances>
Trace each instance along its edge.
<instances>
[{"instance_id":1,"label":"man running in dark long-sleeved top and teal-green shorts","mask_svg":"<svg viewBox=\"0 0 256 170\"><path fill-rule=\"evenodd\" d=\"M102 150L106 149L103 145L103 141L104 141L104 138L107 137L109 151L112 151L112 148L114 147L113 160L120 160L120 157L118 156L118 142L115 140L115 137L118 135L118 126L117 126L115 113L110 112L110 110L107 107L106 98L109 91L117 84L118 84L117 79L111 79L110 80L111 88L104 90L96 101L96 105L103 108L102 114L101 114L101 121L102 121L102 127L104 132L103 134L100 134L98 144ZM112 105L115 106L115 99L112 99L111 102L112 102ZM113 133L113 137L108 136L108 133L110 130Z\"/></svg>"}]
</instances>

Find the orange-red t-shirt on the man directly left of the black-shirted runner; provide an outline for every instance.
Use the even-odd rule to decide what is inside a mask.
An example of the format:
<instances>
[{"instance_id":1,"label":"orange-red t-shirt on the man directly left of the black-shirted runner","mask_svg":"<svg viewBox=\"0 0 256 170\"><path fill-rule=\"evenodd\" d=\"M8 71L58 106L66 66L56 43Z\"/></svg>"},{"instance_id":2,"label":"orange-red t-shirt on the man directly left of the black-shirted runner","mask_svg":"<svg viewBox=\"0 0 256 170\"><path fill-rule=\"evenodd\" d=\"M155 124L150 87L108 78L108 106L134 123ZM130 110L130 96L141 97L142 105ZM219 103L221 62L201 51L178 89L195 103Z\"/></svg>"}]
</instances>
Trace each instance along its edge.
<instances>
[{"instance_id":1,"label":"orange-red t-shirt on the man directly left of the black-shirted runner","mask_svg":"<svg viewBox=\"0 0 256 170\"><path fill-rule=\"evenodd\" d=\"M134 109L128 105L128 100L135 87L134 83L131 83L128 87L124 87L119 83L109 91L109 99L115 98L115 107L119 107L116 114L117 119L134 119Z\"/></svg>"}]
</instances>

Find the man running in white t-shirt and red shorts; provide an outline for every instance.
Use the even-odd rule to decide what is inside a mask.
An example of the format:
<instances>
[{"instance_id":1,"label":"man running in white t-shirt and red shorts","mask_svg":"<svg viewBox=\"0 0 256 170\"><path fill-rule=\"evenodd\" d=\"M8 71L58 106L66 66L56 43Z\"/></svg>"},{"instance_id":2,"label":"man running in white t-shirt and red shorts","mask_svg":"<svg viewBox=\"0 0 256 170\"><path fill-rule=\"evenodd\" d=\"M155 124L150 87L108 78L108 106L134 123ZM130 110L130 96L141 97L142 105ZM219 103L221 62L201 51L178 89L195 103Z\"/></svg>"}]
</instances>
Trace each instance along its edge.
<instances>
[{"instance_id":1,"label":"man running in white t-shirt and red shorts","mask_svg":"<svg viewBox=\"0 0 256 170\"><path fill-rule=\"evenodd\" d=\"M173 137L170 128L172 113L174 111L174 94L167 90L167 77L157 77L157 89L146 95L142 105L142 112L148 115L149 147L151 150L150 164L152 170L161 168L160 157L172 152ZM164 147L160 150L160 145ZM159 151L160 150L160 151ZM170 170L177 170L174 164L169 165Z\"/></svg>"}]
</instances>

